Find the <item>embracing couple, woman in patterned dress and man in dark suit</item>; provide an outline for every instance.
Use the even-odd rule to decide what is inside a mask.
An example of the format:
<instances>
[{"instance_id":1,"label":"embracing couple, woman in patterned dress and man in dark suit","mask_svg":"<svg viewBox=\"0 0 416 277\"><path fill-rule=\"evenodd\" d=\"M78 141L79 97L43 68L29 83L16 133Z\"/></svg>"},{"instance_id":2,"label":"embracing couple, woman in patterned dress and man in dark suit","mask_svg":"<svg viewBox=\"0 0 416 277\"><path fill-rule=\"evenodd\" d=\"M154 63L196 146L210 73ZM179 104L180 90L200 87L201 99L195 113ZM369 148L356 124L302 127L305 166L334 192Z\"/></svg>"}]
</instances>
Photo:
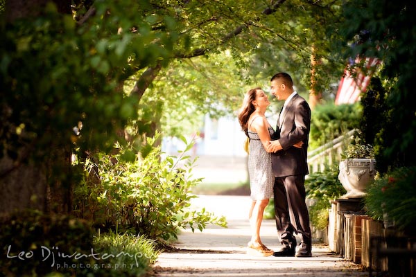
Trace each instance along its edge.
<instances>
[{"instance_id":1,"label":"embracing couple, woman in patterned dress and man in dark suit","mask_svg":"<svg viewBox=\"0 0 416 277\"><path fill-rule=\"evenodd\" d=\"M276 129L266 119L270 102L261 88L246 93L239 114L241 127L250 138L252 238L247 251L256 256L311 257L311 228L304 188L305 175L309 173L306 157L311 109L294 91L292 78L287 73L275 74L270 82L272 95L284 101ZM263 211L271 197L274 197L277 234L282 245L279 251L268 249L260 239ZM301 238L298 247L294 233Z\"/></svg>"}]
</instances>

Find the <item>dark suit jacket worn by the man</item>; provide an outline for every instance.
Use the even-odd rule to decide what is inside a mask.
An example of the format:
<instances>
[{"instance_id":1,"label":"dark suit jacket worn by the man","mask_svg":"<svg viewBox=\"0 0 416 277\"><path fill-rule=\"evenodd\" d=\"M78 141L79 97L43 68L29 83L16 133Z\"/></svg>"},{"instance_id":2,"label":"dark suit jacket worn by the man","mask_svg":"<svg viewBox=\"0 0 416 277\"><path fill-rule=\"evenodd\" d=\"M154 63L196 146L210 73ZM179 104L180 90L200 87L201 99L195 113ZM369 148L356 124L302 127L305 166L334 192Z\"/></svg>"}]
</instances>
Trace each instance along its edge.
<instances>
[{"instance_id":1,"label":"dark suit jacket worn by the man","mask_svg":"<svg viewBox=\"0 0 416 277\"><path fill-rule=\"evenodd\" d=\"M275 177L309 174L306 159L308 156L309 129L311 127L311 109L299 94L293 96L286 105L281 125L277 119L276 132L272 139L279 139L283 150L272 153L272 168ZM303 141L302 148L292 146Z\"/></svg>"}]
</instances>

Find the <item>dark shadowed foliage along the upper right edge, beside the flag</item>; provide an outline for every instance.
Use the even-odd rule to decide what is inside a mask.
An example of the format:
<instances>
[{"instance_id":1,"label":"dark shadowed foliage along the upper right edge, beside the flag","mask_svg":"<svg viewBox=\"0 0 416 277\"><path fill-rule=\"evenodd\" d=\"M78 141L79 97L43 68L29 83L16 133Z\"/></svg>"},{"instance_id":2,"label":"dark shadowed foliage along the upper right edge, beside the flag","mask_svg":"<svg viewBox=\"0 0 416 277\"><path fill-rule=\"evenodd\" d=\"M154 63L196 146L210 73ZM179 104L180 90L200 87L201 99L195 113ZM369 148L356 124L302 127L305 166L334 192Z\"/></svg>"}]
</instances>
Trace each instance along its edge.
<instances>
[{"instance_id":1,"label":"dark shadowed foliage along the upper right edge, beside the flag","mask_svg":"<svg viewBox=\"0 0 416 277\"><path fill-rule=\"evenodd\" d=\"M340 35L354 43L343 47L344 57L377 57L383 62L379 76L388 94L388 111L380 115L385 124L374 145L381 172L416 164L415 12L408 0L353 0L343 6Z\"/></svg>"}]
</instances>

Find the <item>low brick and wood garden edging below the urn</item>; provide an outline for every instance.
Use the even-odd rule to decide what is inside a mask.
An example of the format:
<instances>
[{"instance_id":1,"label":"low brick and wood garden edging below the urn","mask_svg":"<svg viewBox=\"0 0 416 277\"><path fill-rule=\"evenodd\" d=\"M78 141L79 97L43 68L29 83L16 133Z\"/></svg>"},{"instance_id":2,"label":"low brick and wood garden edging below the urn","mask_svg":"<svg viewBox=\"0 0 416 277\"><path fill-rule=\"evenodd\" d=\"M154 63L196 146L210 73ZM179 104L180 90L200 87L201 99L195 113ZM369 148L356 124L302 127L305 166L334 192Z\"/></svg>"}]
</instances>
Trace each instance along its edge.
<instances>
[{"instance_id":1,"label":"low brick and wood garden edging below the urn","mask_svg":"<svg viewBox=\"0 0 416 277\"><path fill-rule=\"evenodd\" d=\"M377 274L416 277L416 237L409 238L383 222L363 214L361 199L331 202L329 249L347 260L361 263Z\"/></svg>"}]
</instances>

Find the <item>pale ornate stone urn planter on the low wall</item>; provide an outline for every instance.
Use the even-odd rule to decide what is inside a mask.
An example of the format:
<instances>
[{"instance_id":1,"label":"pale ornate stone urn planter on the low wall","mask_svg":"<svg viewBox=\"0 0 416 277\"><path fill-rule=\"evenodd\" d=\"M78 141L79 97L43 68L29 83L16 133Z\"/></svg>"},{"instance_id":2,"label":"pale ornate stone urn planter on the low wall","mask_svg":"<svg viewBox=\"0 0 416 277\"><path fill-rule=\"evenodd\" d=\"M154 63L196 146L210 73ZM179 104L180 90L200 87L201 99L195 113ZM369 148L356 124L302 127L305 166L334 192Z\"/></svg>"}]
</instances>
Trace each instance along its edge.
<instances>
[{"instance_id":1,"label":"pale ornate stone urn planter on the low wall","mask_svg":"<svg viewBox=\"0 0 416 277\"><path fill-rule=\"evenodd\" d=\"M375 159L345 159L340 161L338 179L347 190L340 198L362 198L370 181L376 174Z\"/></svg>"}]
</instances>

